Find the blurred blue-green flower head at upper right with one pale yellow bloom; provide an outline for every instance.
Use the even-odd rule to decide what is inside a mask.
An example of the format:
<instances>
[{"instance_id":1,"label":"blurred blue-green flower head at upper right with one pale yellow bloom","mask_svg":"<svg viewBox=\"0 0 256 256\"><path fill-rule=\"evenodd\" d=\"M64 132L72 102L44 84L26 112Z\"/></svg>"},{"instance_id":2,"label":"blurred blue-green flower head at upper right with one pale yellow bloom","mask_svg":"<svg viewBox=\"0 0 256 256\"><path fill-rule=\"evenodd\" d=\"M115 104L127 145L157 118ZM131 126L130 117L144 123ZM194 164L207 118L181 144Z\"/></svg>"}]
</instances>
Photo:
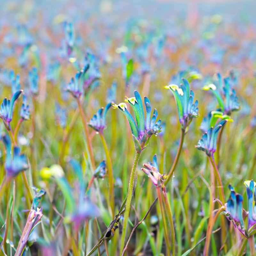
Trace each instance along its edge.
<instances>
[{"instance_id":1,"label":"blurred blue-green flower head at upper right with one pale yellow bloom","mask_svg":"<svg viewBox=\"0 0 256 256\"><path fill-rule=\"evenodd\" d=\"M215 84L207 84L203 87L205 91L211 91L224 114L231 115L233 111L240 109L238 98L236 96L236 91L232 88L232 80L230 77L222 79L220 73L217 74L217 81ZM222 97L224 96L224 98Z\"/></svg>"}]
</instances>

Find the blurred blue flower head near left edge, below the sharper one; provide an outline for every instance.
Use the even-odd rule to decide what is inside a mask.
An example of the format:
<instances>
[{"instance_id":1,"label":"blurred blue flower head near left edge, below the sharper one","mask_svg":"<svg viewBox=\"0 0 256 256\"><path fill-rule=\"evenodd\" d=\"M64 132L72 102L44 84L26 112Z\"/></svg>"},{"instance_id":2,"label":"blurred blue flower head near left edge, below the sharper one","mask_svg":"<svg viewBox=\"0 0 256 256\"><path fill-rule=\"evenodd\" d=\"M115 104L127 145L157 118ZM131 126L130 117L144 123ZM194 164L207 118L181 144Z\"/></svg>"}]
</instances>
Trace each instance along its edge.
<instances>
[{"instance_id":1,"label":"blurred blue flower head near left edge, below the sharper one","mask_svg":"<svg viewBox=\"0 0 256 256\"><path fill-rule=\"evenodd\" d=\"M20 154L20 148L13 148L12 156L12 144L9 135L3 136L4 146L6 149L5 165L4 168L7 172L7 176L14 177L19 172L25 171L28 169L28 161L26 155Z\"/></svg>"}]
</instances>

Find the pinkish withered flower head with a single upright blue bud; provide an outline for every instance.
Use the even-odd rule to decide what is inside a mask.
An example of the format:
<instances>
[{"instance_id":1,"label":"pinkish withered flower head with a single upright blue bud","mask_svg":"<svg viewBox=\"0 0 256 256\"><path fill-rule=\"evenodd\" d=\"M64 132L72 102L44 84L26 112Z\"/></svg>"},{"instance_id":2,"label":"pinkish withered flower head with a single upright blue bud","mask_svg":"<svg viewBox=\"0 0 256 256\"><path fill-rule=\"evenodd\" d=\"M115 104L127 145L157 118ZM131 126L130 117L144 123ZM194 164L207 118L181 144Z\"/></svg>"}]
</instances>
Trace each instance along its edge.
<instances>
[{"instance_id":1,"label":"pinkish withered flower head with a single upright blue bud","mask_svg":"<svg viewBox=\"0 0 256 256\"><path fill-rule=\"evenodd\" d=\"M141 168L143 172L148 175L148 178L153 182L154 185L161 187L167 175L163 175L159 172L156 154L153 156L153 163L143 164L145 168Z\"/></svg>"}]
</instances>

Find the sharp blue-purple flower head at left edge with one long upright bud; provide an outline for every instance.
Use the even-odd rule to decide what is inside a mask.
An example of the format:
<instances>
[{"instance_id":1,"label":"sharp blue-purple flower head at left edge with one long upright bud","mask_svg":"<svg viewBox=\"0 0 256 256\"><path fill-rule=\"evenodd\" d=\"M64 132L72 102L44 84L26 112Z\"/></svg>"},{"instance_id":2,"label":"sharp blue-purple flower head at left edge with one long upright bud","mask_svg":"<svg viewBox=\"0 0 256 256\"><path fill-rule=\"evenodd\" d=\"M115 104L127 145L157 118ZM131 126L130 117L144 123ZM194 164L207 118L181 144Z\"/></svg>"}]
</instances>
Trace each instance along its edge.
<instances>
[{"instance_id":1,"label":"sharp blue-purple flower head at left edge with one long upright bud","mask_svg":"<svg viewBox=\"0 0 256 256\"><path fill-rule=\"evenodd\" d=\"M21 92L23 92L23 90L15 92L12 96L12 100L7 100L7 98L5 98L1 104L0 117L8 127L10 127L10 122L12 121L12 110L14 102L19 98Z\"/></svg>"}]
</instances>

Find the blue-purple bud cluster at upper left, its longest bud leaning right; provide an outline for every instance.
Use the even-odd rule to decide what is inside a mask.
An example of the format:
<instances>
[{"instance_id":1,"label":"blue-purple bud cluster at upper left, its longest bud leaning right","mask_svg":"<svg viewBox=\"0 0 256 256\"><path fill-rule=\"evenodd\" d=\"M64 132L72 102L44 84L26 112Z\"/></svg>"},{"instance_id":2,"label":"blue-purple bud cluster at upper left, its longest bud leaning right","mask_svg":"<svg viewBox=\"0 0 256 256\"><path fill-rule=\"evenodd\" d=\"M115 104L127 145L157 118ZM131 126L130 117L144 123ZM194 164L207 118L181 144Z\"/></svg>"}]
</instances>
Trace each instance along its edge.
<instances>
[{"instance_id":1,"label":"blue-purple bud cluster at upper left, its longest bud leaning right","mask_svg":"<svg viewBox=\"0 0 256 256\"><path fill-rule=\"evenodd\" d=\"M80 96L84 93L84 75L89 69L89 64L87 64L84 69L78 71L76 73L75 78L72 77L71 81L68 83L67 88L65 89L67 92L70 92L73 97L80 98Z\"/></svg>"}]
</instances>

